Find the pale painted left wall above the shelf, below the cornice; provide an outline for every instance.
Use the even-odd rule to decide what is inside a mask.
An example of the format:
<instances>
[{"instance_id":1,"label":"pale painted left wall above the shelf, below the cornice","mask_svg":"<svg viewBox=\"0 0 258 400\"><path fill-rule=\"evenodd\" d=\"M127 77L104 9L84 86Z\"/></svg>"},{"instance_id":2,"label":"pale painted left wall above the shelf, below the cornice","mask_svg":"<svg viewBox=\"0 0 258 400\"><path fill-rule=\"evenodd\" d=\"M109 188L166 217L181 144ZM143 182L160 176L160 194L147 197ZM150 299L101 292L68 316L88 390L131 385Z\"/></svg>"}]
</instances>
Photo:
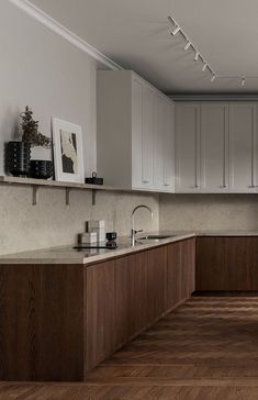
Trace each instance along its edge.
<instances>
[{"instance_id":1,"label":"pale painted left wall above the shelf, below the cornice","mask_svg":"<svg viewBox=\"0 0 258 400\"><path fill-rule=\"evenodd\" d=\"M45 134L52 116L81 125L86 173L94 170L97 62L9 1L0 2L0 54L1 155L30 105Z\"/></svg>"}]
</instances>

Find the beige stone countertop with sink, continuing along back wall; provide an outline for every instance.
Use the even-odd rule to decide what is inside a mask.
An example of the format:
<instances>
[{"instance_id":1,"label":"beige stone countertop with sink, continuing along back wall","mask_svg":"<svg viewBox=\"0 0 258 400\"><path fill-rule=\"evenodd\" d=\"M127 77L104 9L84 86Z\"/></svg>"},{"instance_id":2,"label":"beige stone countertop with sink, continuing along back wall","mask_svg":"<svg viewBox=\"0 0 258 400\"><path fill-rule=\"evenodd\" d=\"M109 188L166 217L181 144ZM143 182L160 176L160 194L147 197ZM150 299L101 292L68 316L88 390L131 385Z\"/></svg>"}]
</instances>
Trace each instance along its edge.
<instances>
[{"instance_id":1,"label":"beige stone countertop with sink, continuing along back wall","mask_svg":"<svg viewBox=\"0 0 258 400\"><path fill-rule=\"evenodd\" d=\"M162 231L148 234L170 235L162 240L137 240L132 245L130 237L117 240L115 249L75 249L72 245L0 255L0 264L93 264L194 236L258 236L258 231ZM144 236L144 234L142 234ZM101 245L101 244L100 244Z\"/></svg>"}]
</instances>

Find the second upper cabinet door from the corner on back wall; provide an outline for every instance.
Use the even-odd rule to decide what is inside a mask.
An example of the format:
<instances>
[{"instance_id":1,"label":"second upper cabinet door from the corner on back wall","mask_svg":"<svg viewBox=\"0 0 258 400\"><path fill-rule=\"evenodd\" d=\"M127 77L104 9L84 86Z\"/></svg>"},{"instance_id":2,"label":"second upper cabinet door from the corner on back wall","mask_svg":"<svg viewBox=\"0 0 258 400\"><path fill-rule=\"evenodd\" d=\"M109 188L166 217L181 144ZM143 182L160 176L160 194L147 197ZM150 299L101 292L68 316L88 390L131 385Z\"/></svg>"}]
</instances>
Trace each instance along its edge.
<instances>
[{"instance_id":1,"label":"second upper cabinet door from the corner on back wall","mask_svg":"<svg viewBox=\"0 0 258 400\"><path fill-rule=\"evenodd\" d=\"M228 191L228 104L202 105L201 185L205 192Z\"/></svg>"}]
</instances>

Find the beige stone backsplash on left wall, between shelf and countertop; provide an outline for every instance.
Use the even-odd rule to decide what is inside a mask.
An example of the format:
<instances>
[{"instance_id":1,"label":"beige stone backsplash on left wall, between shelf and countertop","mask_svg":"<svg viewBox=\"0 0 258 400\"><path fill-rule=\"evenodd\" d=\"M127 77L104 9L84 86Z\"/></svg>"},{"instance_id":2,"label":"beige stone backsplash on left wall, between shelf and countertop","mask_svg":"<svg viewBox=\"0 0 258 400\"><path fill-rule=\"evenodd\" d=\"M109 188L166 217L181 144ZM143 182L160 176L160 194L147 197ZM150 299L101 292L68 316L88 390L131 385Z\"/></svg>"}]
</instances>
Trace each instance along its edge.
<instances>
[{"instance_id":1,"label":"beige stone backsplash on left wall, between shelf and countertop","mask_svg":"<svg viewBox=\"0 0 258 400\"><path fill-rule=\"evenodd\" d=\"M71 190L66 205L64 189L40 188L38 203L32 205L32 188L1 186L0 254L74 244L91 219L104 220L106 231L130 235L131 213L139 203L153 209L154 219L139 210L136 229L158 230L158 195L97 191L97 204L91 200L91 191Z\"/></svg>"}]
</instances>

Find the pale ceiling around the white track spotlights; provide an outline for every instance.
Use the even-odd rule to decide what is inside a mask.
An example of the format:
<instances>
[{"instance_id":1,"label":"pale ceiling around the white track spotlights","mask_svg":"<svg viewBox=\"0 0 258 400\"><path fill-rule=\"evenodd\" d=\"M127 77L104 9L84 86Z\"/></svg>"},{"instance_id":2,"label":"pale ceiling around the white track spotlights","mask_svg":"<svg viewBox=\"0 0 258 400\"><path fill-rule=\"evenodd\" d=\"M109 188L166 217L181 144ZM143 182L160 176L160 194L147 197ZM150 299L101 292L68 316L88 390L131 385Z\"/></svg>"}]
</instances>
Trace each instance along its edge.
<instances>
[{"instance_id":1,"label":"pale ceiling around the white track spotlights","mask_svg":"<svg viewBox=\"0 0 258 400\"><path fill-rule=\"evenodd\" d=\"M201 71L170 14L216 74L258 77L258 0L32 0L124 68L166 93L258 93L258 78L217 79Z\"/></svg>"}]
</instances>

